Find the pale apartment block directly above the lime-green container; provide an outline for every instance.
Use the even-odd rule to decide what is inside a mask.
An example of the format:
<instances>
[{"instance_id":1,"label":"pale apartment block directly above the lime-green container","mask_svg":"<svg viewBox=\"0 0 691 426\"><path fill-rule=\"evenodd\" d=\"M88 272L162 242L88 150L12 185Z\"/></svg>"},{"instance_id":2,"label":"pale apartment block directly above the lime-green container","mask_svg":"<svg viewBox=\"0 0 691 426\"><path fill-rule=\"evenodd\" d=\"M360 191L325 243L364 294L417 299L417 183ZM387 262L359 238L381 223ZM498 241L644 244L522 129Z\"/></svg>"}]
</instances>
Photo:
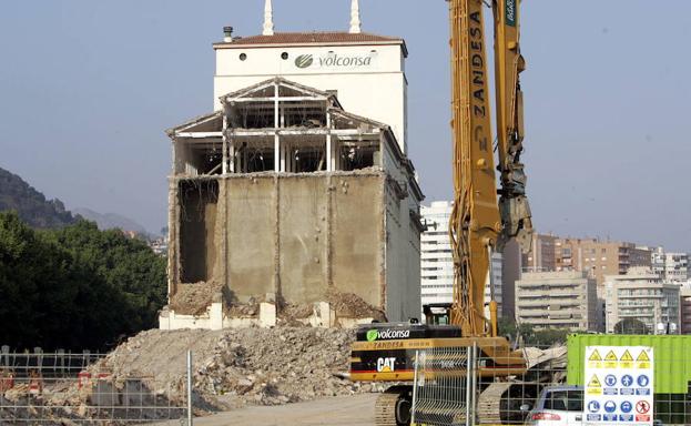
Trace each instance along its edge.
<instances>
[{"instance_id":1,"label":"pale apartment block directly above the lime-green container","mask_svg":"<svg viewBox=\"0 0 691 426\"><path fill-rule=\"evenodd\" d=\"M680 286L664 282L649 267L607 275L604 301L608 333L627 318L640 321L651 334L680 328Z\"/></svg>"}]
</instances>

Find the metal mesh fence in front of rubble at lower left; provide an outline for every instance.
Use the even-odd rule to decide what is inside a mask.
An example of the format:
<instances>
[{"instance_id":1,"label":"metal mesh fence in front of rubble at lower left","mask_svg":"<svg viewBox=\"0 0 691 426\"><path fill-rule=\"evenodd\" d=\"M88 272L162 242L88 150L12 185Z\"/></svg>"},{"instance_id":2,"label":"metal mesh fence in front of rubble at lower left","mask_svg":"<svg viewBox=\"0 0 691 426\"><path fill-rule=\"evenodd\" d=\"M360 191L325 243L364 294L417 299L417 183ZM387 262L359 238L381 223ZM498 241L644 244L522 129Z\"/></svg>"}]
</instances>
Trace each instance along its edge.
<instances>
[{"instance_id":1,"label":"metal mesh fence in front of rubble at lower left","mask_svg":"<svg viewBox=\"0 0 691 426\"><path fill-rule=\"evenodd\" d=\"M0 424L192 425L192 353L184 377L120 372L99 353L0 351Z\"/></svg>"}]
</instances>

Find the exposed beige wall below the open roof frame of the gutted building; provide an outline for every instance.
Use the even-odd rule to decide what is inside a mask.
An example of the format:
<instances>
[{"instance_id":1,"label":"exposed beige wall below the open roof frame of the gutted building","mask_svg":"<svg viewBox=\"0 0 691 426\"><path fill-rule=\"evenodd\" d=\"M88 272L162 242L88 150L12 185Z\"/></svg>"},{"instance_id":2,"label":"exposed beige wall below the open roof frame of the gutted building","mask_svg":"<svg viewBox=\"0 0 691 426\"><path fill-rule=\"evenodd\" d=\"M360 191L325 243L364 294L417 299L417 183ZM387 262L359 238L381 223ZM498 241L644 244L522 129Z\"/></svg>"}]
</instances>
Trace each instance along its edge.
<instances>
[{"instance_id":1,"label":"exposed beige wall below the open roof frame of the gutted building","mask_svg":"<svg viewBox=\"0 0 691 426\"><path fill-rule=\"evenodd\" d=\"M171 287L225 283L231 303L276 294L309 304L335 291L385 308L385 181L377 171L181 181Z\"/></svg>"}]
</instances>

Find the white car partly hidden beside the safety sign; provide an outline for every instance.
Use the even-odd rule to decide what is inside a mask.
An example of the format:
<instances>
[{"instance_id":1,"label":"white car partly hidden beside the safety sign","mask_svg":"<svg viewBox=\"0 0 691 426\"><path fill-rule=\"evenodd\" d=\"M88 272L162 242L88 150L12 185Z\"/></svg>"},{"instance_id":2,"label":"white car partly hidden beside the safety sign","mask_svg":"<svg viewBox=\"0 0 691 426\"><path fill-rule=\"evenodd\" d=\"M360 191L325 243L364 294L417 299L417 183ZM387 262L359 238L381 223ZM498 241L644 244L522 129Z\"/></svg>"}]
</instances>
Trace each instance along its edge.
<instances>
[{"instance_id":1,"label":"white car partly hidden beside the safety sign","mask_svg":"<svg viewBox=\"0 0 691 426\"><path fill-rule=\"evenodd\" d=\"M526 417L526 425L532 426L581 426L582 424L582 386L546 387Z\"/></svg>"}]
</instances>

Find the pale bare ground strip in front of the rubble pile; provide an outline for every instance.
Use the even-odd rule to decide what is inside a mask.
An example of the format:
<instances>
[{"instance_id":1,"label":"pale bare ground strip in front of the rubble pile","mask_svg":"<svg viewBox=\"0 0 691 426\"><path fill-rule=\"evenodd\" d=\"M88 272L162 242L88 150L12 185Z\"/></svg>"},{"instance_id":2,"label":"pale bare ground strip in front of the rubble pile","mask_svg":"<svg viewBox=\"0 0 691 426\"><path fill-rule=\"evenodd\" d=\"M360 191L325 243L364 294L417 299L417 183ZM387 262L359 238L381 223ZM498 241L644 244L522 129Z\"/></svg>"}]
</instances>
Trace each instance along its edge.
<instances>
[{"instance_id":1,"label":"pale bare ground strip in front of the rubble pile","mask_svg":"<svg viewBox=\"0 0 691 426\"><path fill-rule=\"evenodd\" d=\"M195 426L373 426L378 394L339 396L274 407L248 407L194 419ZM179 422L169 425L180 425Z\"/></svg>"}]
</instances>

